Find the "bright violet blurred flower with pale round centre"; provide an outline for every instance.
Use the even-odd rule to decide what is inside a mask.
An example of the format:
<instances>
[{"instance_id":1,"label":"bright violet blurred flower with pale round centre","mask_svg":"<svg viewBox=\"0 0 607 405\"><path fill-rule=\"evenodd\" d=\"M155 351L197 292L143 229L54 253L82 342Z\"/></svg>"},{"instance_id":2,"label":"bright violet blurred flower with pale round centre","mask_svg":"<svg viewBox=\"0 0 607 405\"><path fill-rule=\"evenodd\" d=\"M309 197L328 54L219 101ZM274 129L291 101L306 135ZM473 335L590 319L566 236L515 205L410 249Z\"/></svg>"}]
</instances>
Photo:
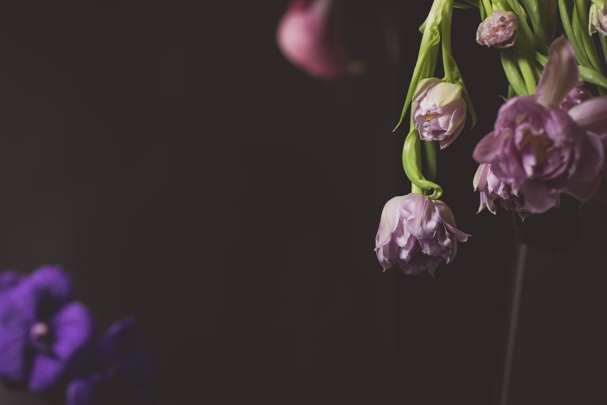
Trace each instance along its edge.
<instances>
[{"instance_id":1,"label":"bright violet blurred flower with pale round centre","mask_svg":"<svg viewBox=\"0 0 607 405\"><path fill-rule=\"evenodd\" d=\"M89 310L72 301L61 268L0 276L0 377L25 381L34 392L50 389L90 344L94 329Z\"/></svg>"}]
</instances>

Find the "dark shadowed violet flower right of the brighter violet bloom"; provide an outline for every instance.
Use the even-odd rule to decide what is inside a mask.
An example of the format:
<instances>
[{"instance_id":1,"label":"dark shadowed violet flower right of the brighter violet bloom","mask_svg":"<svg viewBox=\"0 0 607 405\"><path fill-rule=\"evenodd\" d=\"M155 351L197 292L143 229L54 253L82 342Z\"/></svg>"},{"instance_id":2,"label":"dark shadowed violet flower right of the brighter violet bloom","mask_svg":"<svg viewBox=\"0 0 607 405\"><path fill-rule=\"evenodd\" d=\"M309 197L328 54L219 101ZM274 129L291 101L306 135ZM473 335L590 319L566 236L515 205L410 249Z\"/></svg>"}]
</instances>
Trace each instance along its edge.
<instances>
[{"instance_id":1,"label":"dark shadowed violet flower right of the brighter violet bloom","mask_svg":"<svg viewBox=\"0 0 607 405\"><path fill-rule=\"evenodd\" d=\"M67 405L148 403L154 367L141 349L134 318L116 322L88 353L81 376L67 386Z\"/></svg>"}]
</instances>

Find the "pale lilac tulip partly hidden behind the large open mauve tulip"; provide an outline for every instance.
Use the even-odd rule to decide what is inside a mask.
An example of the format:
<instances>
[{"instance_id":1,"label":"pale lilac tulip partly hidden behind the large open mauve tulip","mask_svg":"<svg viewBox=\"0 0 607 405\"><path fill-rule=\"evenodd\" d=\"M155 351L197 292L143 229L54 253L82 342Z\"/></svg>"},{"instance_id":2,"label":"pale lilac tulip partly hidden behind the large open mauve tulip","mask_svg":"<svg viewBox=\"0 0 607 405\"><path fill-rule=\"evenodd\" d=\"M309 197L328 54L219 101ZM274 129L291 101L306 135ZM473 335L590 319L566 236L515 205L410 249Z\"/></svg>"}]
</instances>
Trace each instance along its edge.
<instances>
[{"instance_id":1,"label":"pale lilac tulip partly hidden behind the large open mauve tulip","mask_svg":"<svg viewBox=\"0 0 607 405\"><path fill-rule=\"evenodd\" d=\"M475 191L480 191L481 204L478 207L478 212L483 211L485 207L492 214L495 214L497 207L495 200L500 200L501 206L508 211L516 211L521 218L529 216L529 209L524 206L523 196L515 194L512 191L512 186L504 183L497 178L491 171L491 165L481 163L474 175L473 186Z\"/></svg>"}]
</instances>

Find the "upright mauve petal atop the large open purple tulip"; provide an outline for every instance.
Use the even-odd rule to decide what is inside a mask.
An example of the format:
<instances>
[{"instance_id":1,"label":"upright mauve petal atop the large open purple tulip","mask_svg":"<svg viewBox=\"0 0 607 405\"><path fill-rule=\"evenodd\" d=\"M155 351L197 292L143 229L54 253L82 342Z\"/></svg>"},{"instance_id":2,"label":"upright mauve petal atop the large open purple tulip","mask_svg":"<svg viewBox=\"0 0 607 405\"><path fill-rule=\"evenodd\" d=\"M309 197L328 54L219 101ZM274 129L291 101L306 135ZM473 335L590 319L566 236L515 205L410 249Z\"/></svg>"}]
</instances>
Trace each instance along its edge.
<instances>
[{"instance_id":1,"label":"upright mauve petal atop the large open purple tulip","mask_svg":"<svg viewBox=\"0 0 607 405\"><path fill-rule=\"evenodd\" d=\"M560 36L552 42L546 67L535 95L544 107L560 106L565 96L577 85L580 72L571 43Z\"/></svg>"}]
</instances>

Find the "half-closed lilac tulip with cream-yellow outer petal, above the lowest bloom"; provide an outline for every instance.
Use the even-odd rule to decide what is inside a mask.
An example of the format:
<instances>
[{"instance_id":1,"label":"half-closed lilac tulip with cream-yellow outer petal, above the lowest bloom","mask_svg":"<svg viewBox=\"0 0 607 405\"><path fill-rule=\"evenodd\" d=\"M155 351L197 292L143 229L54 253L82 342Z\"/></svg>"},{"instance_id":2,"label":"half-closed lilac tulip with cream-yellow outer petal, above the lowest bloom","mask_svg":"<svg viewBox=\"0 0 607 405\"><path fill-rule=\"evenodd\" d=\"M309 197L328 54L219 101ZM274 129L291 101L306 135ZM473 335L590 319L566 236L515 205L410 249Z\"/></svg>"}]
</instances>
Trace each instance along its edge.
<instances>
[{"instance_id":1,"label":"half-closed lilac tulip with cream-yellow outer petal, above the lowest bloom","mask_svg":"<svg viewBox=\"0 0 607 405\"><path fill-rule=\"evenodd\" d=\"M441 149L457 138L466 123L466 103L461 90L459 84L434 77L419 82L413 95L413 124L419 137L439 141Z\"/></svg>"}]
</instances>

